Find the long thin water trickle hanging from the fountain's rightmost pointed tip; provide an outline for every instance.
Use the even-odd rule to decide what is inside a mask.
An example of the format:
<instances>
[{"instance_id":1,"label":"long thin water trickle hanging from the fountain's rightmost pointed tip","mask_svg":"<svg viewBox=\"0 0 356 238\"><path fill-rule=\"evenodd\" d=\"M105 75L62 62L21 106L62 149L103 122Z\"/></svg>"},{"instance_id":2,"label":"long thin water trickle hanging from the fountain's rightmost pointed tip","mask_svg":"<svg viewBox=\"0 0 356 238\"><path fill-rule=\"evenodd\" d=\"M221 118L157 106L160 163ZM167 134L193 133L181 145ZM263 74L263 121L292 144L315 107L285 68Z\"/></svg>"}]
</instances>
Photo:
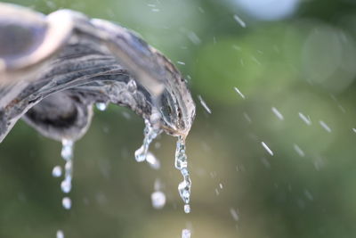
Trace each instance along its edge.
<instances>
[{"instance_id":1,"label":"long thin water trickle hanging from the fountain's rightmost pointed tip","mask_svg":"<svg viewBox=\"0 0 356 238\"><path fill-rule=\"evenodd\" d=\"M182 136L178 137L177 147L175 150L175 161L174 166L181 171L183 176L183 181L178 185L178 191L181 195L182 201L184 201L184 212L190 213L190 174L188 171L188 160L185 154L185 140Z\"/></svg>"}]
</instances>

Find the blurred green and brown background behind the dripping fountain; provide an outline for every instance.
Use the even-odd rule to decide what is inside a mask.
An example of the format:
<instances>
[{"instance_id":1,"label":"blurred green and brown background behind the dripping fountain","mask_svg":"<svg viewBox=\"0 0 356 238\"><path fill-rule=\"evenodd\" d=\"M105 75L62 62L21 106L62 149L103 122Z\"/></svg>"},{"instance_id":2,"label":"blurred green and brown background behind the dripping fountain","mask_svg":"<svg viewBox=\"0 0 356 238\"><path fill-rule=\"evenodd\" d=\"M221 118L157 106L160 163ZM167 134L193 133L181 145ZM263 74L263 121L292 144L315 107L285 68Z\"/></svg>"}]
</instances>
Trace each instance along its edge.
<instances>
[{"instance_id":1,"label":"blurred green and brown background behind the dripping fountain","mask_svg":"<svg viewBox=\"0 0 356 238\"><path fill-rule=\"evenodd\" d=\"M144 123L131 111L95 111L76 144L69 211L52 176L64 164L61 144L20 121L0 146L0 237L61 229L66 238L166 238L182 228L193 238L356 236L356 1L12 3L134 29L189 78L197 117L187 142L189 215L177 192L175 139L162 135L151 146L160 170L137 163ZM150 201L157 178L167 199L159 210Z\"/></svg>"}]
</instances>

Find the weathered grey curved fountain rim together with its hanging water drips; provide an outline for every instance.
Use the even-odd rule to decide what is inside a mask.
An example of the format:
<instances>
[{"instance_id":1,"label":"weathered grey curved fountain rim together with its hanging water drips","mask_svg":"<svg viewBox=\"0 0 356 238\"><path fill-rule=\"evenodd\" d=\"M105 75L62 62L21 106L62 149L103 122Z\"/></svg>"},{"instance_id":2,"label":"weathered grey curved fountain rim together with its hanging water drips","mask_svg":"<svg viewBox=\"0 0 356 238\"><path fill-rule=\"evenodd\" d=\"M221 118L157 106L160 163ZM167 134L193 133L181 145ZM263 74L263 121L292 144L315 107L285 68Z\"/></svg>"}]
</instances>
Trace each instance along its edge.
<instances>
[{"instance_id":1,"label":"weathered grey curved fountain rim together with its hanging water drips","mask_svg":"<svg viewBox=\"0 0 356 238\"><path fill-rule=\"evenodd\" d=\"M21 16L21 17L19 17ZM62 143L66 161L63 193L71 190L73 146L93 117L93 105L130 108L144 119L137 161L162 132L178 137L175 167L184 178L179 193L190 212L190 177L185 138L195 104L180 72L132 31L80 12L47 16L0 4L0 143L19 119ZM61 176L61 168L53 168ZM63 206L70 209L69 197Z\"/></svg>"}]
</instances>

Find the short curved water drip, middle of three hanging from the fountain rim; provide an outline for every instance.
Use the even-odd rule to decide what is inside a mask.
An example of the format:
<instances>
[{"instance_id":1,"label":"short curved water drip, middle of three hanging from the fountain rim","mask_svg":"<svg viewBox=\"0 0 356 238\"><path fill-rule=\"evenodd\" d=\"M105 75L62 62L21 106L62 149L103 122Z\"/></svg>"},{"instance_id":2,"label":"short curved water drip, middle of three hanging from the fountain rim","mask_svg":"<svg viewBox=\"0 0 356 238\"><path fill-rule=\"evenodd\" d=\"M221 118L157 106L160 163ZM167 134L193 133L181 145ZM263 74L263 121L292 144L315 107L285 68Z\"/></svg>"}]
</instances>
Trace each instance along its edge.
<instances>
[{"instance_id":1,"label":"short curved water drip, middle of three hanging from the fountain rim","mask_svg":"<svg viewBox=\"0 0 356 238\"><path fill-rule=\"evenodd\" d=\"M137 162L143 162L146 160L150 143L159 135L160 131L155 127L150 125L150 121L148 119L145 120L146 127L144 128L144 138L142 146L134 152L134 158ZM150 163L150 162L149 162Z\"/></svg>"}]
</instances>

